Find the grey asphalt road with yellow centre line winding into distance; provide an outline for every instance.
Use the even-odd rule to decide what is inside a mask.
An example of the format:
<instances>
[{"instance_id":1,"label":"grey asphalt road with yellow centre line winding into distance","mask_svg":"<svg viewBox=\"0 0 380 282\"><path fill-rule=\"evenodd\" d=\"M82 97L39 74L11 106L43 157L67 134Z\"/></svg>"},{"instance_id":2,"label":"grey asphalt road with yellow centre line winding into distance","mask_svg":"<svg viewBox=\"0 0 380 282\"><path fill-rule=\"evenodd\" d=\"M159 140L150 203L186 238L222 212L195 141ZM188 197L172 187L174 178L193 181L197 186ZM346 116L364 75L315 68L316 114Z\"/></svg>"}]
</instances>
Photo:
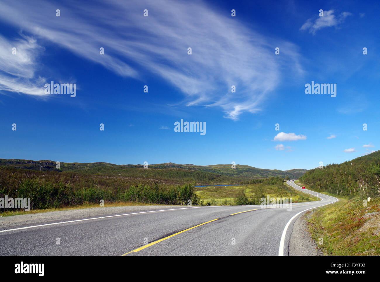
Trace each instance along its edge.
<instances>
[{"instance_id":1,"label":"grey asphalt road with yellow centre line winding into distance","mask_svg":"<svg viewBox=\"0 0 380 282\"><path fill-rule=\"evenodd\" d=\"M321 201L291 208L147 206L145 211L0 227L0 255L288 255L296 217L337 201L318 196Z\"/></svg>"}]
</instances>

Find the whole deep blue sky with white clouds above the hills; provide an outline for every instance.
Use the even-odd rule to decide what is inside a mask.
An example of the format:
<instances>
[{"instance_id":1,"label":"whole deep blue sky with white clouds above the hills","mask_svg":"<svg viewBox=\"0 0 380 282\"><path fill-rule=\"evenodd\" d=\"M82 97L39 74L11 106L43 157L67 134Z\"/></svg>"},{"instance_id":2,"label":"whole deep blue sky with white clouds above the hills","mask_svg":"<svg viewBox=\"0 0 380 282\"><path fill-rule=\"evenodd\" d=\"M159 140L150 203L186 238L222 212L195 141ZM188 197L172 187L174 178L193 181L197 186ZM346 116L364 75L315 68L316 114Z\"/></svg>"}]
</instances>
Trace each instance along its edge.
<instances>
[{"instance_id":1,"label":"whole deep blue sky with white clouds above the hills","mask_svg":"<svg viewBox=\"0 0 380 282\"><path fill-rule=\"evenodd\" d=\"M288 170L377 151L378 10L3 0L0 158ZM46 94L51 81L76 83L76 97ZM305 94L312 81L336 84L336 97ZM206 134L174 132L181 119L206 122Z\"/></svg>"}]
</instances>

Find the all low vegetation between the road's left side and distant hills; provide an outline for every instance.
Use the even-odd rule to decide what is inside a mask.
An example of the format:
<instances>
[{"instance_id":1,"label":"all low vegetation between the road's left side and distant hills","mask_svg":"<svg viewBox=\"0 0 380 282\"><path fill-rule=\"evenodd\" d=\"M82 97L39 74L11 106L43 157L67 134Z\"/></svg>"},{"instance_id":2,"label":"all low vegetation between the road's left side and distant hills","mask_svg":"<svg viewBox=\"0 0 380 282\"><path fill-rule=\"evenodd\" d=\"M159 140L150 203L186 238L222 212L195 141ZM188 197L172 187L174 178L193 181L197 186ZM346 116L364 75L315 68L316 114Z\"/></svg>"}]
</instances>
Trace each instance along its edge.
<instances>
[{"instance_id":1,"label":"all low vegetation between the road's left side and distant hills","mask_svg":"<svg viewBox=\"0 0 380 282\"><path fill-rule=\"evenodd\" d=\"M266 195L292 197L293 202L310 200L301 193L294 193L283 184L281 177L244 180L242 183L245 186L229 186L227 189L218 187L213 192L211 187L195 188L196 182L191 180L191 184L179 185L167 184L165 179L159 177L39 171L0 166L0 197L8 195L13 198L30 198L32 210L100 204L100 200L107 204L123 202L173 205L186 205L188 200L192 201L192 205L260 204L260 198ZM212 197L207 198L206 195ZM5 211L0 209L0 212Z\"/></svg>"}]
</instances>

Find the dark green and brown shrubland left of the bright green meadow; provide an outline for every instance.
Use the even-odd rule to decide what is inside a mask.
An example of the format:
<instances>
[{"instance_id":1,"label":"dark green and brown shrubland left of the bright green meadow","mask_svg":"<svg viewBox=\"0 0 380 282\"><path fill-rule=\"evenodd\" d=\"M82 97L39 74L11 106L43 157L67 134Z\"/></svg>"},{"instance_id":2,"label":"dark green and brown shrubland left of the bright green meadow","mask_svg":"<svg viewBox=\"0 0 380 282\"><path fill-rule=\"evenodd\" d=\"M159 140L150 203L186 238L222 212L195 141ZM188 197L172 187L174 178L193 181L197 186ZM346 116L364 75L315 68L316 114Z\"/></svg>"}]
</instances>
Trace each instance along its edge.
<instances>
[{"instance_id":1,"label":"dark green and brown shrubland left of the bright green meadow","mask_svg":"<svg viewBox=\"0 0 380 282\"><path fill-rule=\"evenodd\" d=\"M0 167L0 197L30 198L31 209L76 206L118 201L154 204L201 204L194 184L165 186L131 185L126 177L109 177L55 171ZM0 209L3 212L5 209Z\"/></svg>"}]
</instances>

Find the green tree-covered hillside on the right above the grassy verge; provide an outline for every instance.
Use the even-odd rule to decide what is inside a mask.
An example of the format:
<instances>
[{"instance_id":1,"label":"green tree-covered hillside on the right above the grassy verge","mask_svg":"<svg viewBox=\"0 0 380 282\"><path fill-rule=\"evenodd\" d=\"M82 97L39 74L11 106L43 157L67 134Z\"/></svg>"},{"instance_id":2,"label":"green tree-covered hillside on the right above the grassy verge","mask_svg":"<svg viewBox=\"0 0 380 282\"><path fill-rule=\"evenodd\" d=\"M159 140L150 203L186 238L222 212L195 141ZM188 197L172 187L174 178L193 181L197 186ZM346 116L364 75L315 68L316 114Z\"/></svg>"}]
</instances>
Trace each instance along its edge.
<instances>
[{"instance_id":1,"label":"green tree-covered hillside on the right above the grassy verge","mask_svg":"<svg viewBox=\"0 0 380 282\"><path fill-rule=\"evenodd\" d=\"M341 164L307 171L300 180L316 192L339 196L380 196L380 151Z\"/></svg>"}]
</instances>

